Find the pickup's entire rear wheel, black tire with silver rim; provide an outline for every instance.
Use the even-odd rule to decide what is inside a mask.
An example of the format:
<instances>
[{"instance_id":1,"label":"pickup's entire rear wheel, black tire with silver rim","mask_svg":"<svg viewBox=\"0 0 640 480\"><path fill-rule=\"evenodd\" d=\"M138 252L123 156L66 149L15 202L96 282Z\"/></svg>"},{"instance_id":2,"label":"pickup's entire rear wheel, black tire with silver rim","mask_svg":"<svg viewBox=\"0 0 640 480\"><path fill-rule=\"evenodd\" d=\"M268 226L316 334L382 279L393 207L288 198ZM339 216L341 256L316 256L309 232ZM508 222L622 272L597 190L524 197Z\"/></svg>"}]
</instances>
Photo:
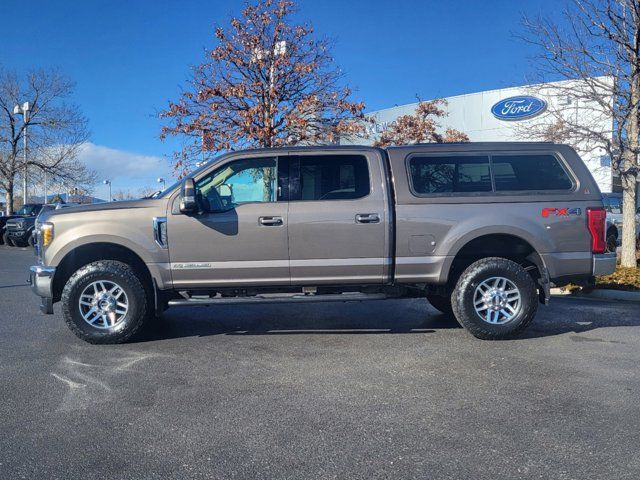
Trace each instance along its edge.
<instances>
[{"instance_id":1,"label":"pickup's entire rear wheel, black tire with silver rim","mask_svg":"<svg viewBox=\"0 0 640 480\"><path fill-rule=\"evenodd\" d=\"M517 263L499 257L472 263L460 275L451 299L458 322L484 340L518 335L538 308L531 276Z\"/></svg>"}]
</instances>

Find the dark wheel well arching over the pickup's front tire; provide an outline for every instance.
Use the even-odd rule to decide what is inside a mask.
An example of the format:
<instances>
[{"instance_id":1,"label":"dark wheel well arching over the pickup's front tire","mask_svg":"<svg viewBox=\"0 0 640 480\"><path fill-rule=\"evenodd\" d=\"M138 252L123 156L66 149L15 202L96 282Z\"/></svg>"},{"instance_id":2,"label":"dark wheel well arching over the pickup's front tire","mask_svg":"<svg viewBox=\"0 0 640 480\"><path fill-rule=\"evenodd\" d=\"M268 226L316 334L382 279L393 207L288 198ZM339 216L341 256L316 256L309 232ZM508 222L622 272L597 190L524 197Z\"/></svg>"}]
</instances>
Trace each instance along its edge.
<instances>
[{"instance_id":1,"label":"dark wheel well arching over the pickup's front tire","mask_svg":"<svg viewBox=\"0 0 640 480\"><path fill-rule=\"evenodd\" d=\"M151 273L142 259L132 250L114 243L91 243L71 250L56 267L53 278L53 299L60 300L67 280L79 268L98 260L117 260L133 267L146 289L152 291Z\"/></svg>"}]
</instances>

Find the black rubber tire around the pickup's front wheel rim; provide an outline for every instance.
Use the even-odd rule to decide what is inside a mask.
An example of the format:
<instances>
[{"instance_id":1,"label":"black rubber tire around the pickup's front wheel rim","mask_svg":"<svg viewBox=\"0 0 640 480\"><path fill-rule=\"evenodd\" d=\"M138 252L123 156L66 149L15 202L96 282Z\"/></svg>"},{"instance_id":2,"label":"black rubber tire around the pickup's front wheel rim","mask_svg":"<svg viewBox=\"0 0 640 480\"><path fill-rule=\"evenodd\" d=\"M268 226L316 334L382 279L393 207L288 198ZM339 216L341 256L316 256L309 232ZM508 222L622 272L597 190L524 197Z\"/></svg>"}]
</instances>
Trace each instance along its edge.
<instances>
[{"instance_id":1,"label":"black rubber tire around the pickup's front wheel rim","mask_svg":"<svg viewBox=\"0 0 640 480\"><path fill-rule=\"evenodd\" d=\"M80 313L80 295L93 282L117 283L128 300L128 310L114 327L98 328L87 323ZM89 343L124 343L146 323L151 306L145 288L135 270L126 263L100 260L77 270L62 291L62 315L71 331Z\"/></svg>"}]
</instances>

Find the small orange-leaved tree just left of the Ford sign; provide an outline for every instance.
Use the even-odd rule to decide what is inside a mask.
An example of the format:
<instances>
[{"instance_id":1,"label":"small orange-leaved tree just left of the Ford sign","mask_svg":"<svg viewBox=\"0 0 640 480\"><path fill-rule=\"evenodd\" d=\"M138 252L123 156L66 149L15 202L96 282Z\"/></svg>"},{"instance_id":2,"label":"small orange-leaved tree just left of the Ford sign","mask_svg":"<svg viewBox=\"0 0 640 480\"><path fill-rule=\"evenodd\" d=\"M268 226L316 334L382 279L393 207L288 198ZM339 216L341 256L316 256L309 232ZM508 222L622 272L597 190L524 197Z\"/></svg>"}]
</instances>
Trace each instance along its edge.
<instances>
[{"instance_id":1,"label":"small orange-leaved tree just left of the Ford sign","mask_svg":"<svg viewBox=\"0 0 640 480\"><path fill-rule=\"evenodd\" d=\"M413 115L402 115L391 123L376 141L376 146L468 142L469 137L465 133L453 128L447 128L444 133L439 132L441 125L438 120L447 116L447 112L442 109L446 106L447 101L444 99L420 101Z\"/></svg>"}]
</instances>

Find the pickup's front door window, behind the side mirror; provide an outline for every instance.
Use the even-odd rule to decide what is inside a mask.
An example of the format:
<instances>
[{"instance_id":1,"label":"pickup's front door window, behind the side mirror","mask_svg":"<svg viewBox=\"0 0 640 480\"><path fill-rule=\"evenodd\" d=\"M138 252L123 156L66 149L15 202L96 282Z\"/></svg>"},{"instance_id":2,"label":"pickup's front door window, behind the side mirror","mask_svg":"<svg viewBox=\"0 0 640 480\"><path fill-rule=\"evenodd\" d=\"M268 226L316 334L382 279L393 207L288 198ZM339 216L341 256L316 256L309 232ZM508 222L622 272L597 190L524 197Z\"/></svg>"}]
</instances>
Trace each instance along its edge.
<instances>
[{"instance_id":1,"label":"pickup's front door window, behind the side mirror","mask_svg":"<svg viewBox=\"0 0 640 480\"><path fill-rule=\"evenodd\" d=\"M221 212L244 203L278 199L278 159L245 158L227 163L196 182L196 196L205 212Z\"/></svg>"}]
</instances>

